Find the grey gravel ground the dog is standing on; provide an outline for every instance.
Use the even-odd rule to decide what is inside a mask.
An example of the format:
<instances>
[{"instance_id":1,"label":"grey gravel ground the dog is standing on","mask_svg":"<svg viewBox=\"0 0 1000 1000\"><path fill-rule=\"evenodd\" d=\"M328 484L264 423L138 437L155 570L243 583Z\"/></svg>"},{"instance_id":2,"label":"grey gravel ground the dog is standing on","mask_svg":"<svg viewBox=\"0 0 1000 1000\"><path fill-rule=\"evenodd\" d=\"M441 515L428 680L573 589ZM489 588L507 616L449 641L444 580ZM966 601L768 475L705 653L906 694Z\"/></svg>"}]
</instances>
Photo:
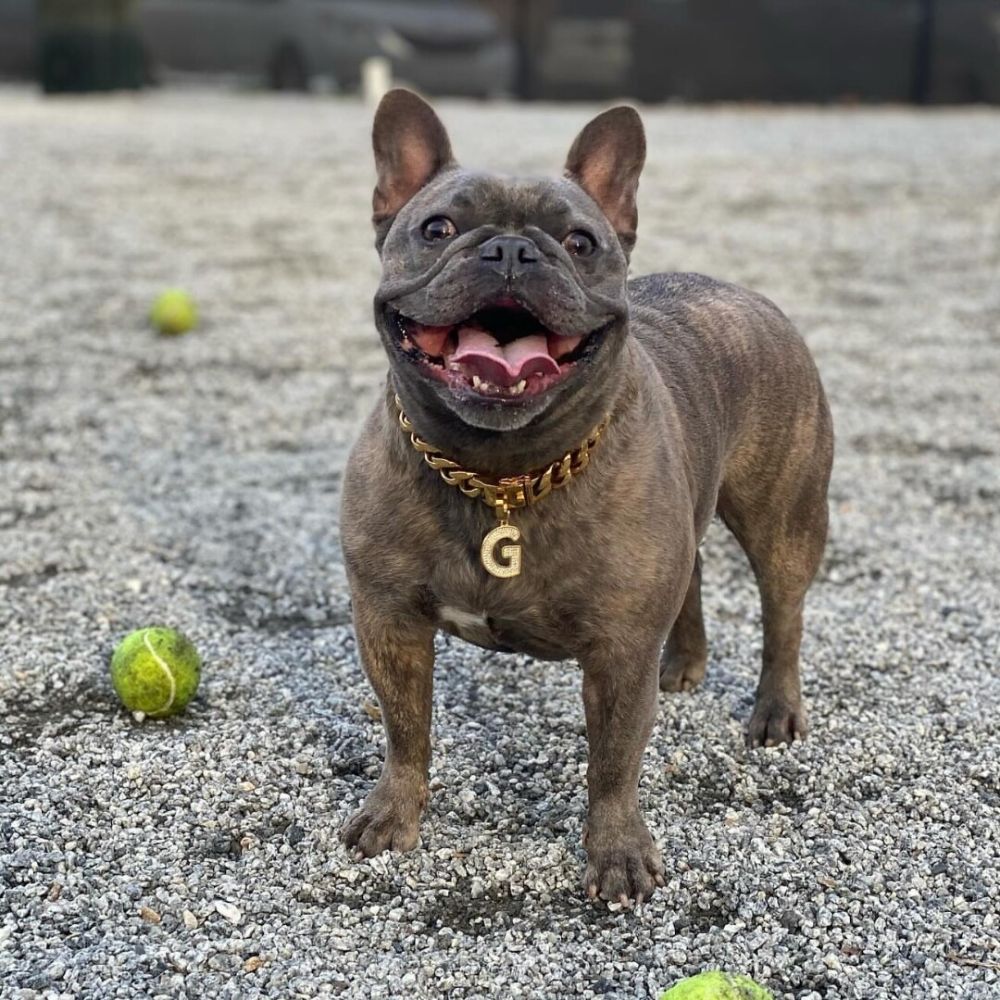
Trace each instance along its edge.
<instances>
[{"instance_id":1,"label":"grey gravel ground the dog is standing on","mask_svg":"<svg viewBox=\"0 0 1000 1000\"><path fill-rule=\"evenodd\" d=\"M442 105L480 165L557 168L583 107ZM647 112L636 273L779 302L838 455L804 644L812 736L748 753L756 595L705 545L704 689L641 799L668 885L582 898L571 665L442 638L422 849L351 862L383 750L340 474L383 379L369 112L0 91L0 994L1000 996L1000 115ZM204 325L160 339L156 291ZM207 667L137 724L140 625Z\"/></svg>"}]
</instances>

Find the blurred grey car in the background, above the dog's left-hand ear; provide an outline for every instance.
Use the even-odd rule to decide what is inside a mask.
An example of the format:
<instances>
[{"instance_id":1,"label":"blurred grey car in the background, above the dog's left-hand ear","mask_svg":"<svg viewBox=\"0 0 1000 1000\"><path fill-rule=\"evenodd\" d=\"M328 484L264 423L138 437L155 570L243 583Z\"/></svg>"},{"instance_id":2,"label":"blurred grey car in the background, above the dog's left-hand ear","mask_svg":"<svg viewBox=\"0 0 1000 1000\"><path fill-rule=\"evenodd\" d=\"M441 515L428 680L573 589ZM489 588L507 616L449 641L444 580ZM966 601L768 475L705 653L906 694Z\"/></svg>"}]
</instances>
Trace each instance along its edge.
<instances>
[{"instance_id":1,"label":"blurred grey car in the background, above the dog's left-hand ear","mask_svg":"<svg viewBox=\"0 0 1000 1000\"><path fill-rule=\"evenodd\" d=\"M255 77L278 90L319 79L354 89L369 57L432 94L510 91L513 46L496 17L466 0L143 0L150 73Z\"/></svg>"}]
</instances>

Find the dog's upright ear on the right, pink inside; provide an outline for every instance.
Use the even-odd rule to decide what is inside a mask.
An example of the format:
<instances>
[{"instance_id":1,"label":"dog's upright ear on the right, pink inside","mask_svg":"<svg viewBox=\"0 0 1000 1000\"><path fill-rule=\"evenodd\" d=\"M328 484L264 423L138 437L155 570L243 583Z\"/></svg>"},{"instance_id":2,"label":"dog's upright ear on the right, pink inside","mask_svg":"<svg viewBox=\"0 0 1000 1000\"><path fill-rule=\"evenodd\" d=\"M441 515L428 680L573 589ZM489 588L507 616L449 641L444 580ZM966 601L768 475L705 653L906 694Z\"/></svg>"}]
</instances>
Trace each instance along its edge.
<instances>
[{"instance_id":1,"label":"dog's upright ear on the right, pink inside","mask_svg":"<svg viewBox=\"0 0 1000 1000\"><path fill-rule=\"evenodd\" d=\"M634 108L598 115L576 137L566 158L566 176L576 181L614 226L627 254L639 222L636 192L646 161L646 134Z\"/></svg>"}]
</instances>

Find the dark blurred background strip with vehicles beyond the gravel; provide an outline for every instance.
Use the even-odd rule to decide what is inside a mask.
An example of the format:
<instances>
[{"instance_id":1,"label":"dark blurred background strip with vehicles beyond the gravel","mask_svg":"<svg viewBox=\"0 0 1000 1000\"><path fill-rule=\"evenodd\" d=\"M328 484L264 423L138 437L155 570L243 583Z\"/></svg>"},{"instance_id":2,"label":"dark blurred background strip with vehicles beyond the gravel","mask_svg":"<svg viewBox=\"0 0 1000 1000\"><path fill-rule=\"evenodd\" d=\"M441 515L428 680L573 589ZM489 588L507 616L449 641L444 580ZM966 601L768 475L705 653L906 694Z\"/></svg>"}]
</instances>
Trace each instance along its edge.
<instances>
[{"instance_id":1,"label":"dark blurred background strip with vehicles beyond the gravel","mask_svg":"<svg viewBox=\"0 0 1000 1000\"><path fill-rule=\"evenodd\" d=\"M0 0L0 77L344 93L1000 103L1000 0ZM371 65L371 64L369 64Z\"/></svg>"}]
</instances>

